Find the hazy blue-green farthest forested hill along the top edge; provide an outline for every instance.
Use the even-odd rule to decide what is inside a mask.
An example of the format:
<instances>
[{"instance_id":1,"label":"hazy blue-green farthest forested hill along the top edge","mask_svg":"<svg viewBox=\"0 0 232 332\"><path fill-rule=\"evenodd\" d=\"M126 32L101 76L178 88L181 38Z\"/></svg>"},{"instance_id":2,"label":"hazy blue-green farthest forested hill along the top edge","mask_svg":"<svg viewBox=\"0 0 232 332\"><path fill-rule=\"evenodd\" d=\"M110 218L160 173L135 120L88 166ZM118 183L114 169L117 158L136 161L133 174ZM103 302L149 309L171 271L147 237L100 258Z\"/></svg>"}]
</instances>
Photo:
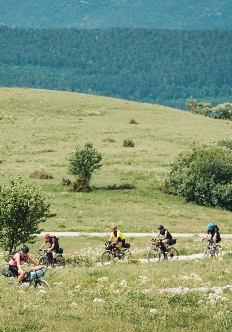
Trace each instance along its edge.
<instances>
[{"instance_id":1,"label":"hazy blue-green farthest forested hill along the top edge","mask_svg":"<svg viewBox=\"0 0 232 332\"><path fill-rule=\"evenodd\" d=\"M232 29L225 0L0 0L0 25L24 28Z\"/></svg>"}]
</instances>

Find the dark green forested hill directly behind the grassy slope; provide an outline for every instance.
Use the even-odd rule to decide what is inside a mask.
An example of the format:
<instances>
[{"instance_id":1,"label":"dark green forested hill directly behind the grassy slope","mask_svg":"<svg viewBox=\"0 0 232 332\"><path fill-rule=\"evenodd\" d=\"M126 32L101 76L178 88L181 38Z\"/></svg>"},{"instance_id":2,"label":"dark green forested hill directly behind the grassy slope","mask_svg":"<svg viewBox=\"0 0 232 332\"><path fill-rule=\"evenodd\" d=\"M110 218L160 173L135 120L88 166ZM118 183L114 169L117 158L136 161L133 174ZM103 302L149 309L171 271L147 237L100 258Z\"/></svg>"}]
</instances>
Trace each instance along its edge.
<instances>
[{"instance_id":1,"label":"dark green forested hill directly behind the grassy slope","mask_svg":"<svg viewBox=\"0 0 232 332\"><path fill-rule=\"evenodd\" d=\"M185 108L232 102L232 31L0 27L0 86Z\"/></svg>"}]
</instances>

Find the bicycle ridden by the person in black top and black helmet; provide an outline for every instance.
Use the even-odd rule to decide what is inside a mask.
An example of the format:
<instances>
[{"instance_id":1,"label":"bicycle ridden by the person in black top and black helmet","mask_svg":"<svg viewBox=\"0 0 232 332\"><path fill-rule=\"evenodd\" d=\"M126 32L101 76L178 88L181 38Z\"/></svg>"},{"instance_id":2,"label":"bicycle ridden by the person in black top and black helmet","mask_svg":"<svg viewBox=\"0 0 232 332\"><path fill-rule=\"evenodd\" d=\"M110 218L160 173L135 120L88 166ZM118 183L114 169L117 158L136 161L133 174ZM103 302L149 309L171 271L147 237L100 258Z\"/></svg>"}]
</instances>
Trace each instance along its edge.
<instances>
[{"instance_id":1,"label":"bicycle ridden by the person in black top and black helmet","mask_svg":"<svg viewBox=\"0 0 232 332\"><path fill-rule=\"evenodd\" d=\"M151 239L151 241L153 241L155 248L150 249L147 253L148 262L159 262L162 255L167 261L178 260L179 253L175 247L168 248L168 251L165 251L165 246L160 239Z\"/></svg>"}]
</instances>

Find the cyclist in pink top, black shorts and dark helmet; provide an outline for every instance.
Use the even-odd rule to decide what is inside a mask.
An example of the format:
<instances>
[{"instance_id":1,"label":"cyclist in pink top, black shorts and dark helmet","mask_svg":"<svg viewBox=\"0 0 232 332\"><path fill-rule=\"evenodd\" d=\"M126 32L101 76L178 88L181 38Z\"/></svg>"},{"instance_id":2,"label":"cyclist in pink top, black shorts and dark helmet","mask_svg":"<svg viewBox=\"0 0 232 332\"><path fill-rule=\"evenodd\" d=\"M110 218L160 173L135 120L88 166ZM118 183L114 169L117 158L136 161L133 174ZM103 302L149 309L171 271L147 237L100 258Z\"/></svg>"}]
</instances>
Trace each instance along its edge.
<instances>
[{"instance_id":1,"label":"cyclist in pink top, black shorts and dark helmet","mask_svg":"<svg viewBox=\"0 0 232 332\"><path fill-rule=\"evenodd\" d=\"M18 250L9 262L9 270L14 274L18 274L18 282L20 283L25 278L25 271L21 268L21 263L24 262L25 257L29 259L29 261L34 264L35 266L39 266L44 268L45 266L40 266L37 264L28 254L29 248L26 244L23 244L21 249Z\"/></svg>"}]
</instances>

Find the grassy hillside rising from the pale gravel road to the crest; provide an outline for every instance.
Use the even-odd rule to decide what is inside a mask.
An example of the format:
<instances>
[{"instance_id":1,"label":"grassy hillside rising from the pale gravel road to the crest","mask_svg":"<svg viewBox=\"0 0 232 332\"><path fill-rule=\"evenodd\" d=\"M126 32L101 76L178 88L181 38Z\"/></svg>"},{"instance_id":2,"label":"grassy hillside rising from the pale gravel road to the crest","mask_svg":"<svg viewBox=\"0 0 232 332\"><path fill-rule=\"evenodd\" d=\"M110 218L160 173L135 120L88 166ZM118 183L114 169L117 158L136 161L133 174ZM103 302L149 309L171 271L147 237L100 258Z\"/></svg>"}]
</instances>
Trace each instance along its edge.
<instances>
[{"instance_id":1,"label":"grassy hillside rising from the pale gravel road to the crest","mask_svg":"<svg viewBox=\"0 0 232 332\"><path fill-rule=\"evenodd\" d=\"M57 217L42 225L45 230L104 232L117 224L124 232L156 232L162 223L173 232L200 233L213 220L221 232L232 231L231 212L186 204L156 190L182 149L199 140L230 137L230 122L68 92L1 88L0 98L1 179L21 174L53 194ZM132 118L138 124L129 124ZM108 138L115 141L104 141ZM123 147L128 138L134 148ZM60 181L63 176L74 179L67 174L65 156L86 140L104 157L90 183L92 191L82 194ZM35 170L45 170L54 179L31 179ZM134 183L136 189L109 189L123 182Z\"/></svg>"}]
</instances>

